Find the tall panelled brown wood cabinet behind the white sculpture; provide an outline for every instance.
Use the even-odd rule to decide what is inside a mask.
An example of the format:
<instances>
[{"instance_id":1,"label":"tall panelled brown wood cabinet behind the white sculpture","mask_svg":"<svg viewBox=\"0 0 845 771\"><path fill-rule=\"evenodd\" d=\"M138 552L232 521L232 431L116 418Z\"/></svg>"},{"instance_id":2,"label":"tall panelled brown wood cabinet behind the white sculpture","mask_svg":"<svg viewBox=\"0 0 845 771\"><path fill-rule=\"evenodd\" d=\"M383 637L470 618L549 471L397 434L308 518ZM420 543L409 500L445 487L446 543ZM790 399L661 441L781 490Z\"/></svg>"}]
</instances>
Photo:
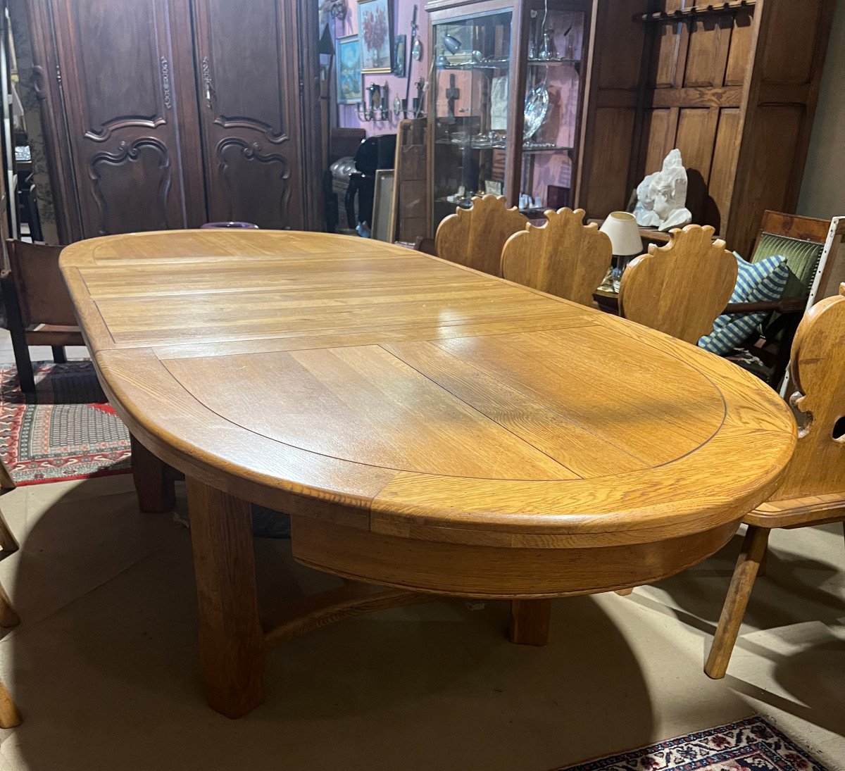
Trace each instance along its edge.
<instances>
[{"instance_id":1,"label":"tall panelled brown wood cabinet behind the white sculpture","mask_svg":"<svg viewBox=\"0 0 845 771\"><path fill-rule=\"evenodd\" d=\"M750 254L763 212L798 204L834 8L595 0L577 204L624 209L677 147L693 221Z\"/></svg>"}]
</instances>

